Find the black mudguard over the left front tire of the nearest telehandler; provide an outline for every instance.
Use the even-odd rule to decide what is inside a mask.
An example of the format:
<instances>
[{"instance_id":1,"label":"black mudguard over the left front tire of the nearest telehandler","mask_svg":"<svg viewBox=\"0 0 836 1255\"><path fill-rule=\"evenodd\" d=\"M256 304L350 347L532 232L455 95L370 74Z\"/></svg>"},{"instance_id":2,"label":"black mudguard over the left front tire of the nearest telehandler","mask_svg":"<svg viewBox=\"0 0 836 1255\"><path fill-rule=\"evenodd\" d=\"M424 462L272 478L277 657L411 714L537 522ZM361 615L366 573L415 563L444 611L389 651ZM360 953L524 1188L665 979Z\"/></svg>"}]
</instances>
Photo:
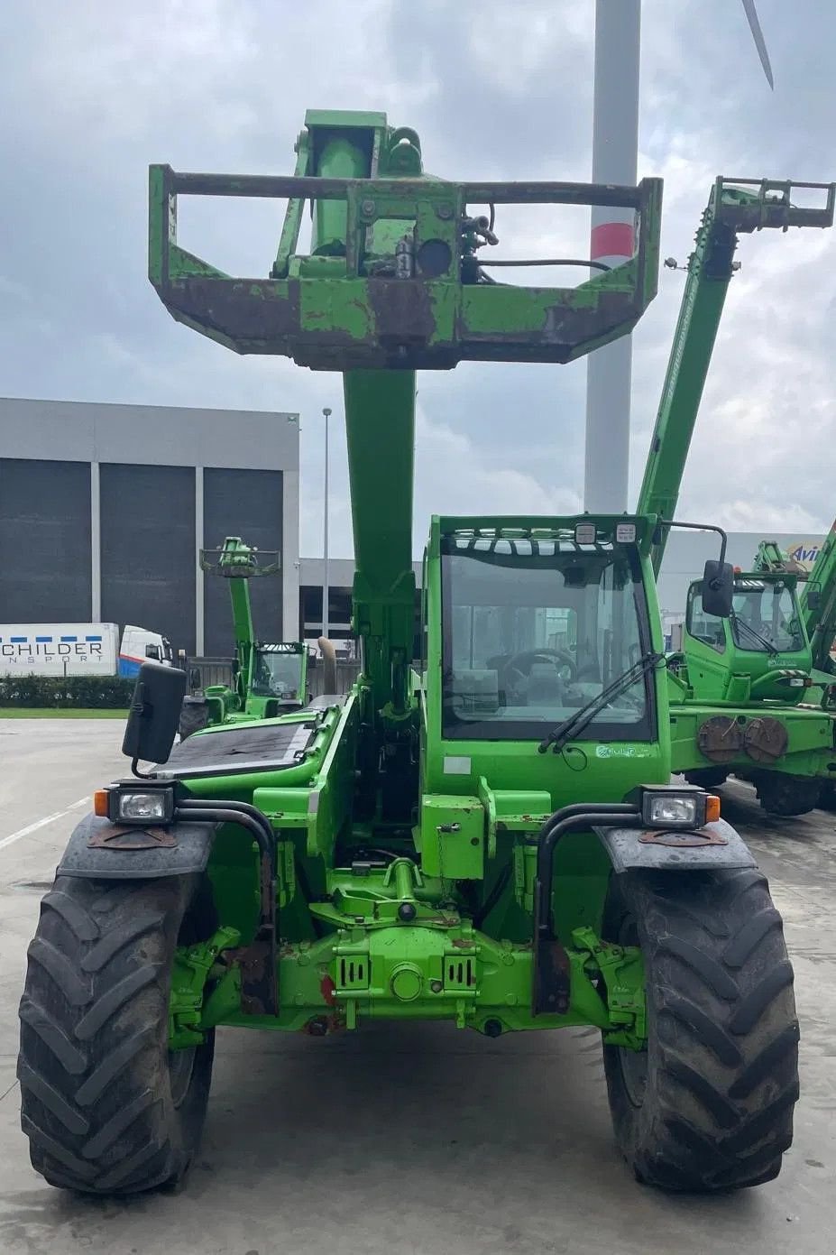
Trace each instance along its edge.
<instances>
[{"instance_id":1,"label":"black mudguard over the left front tire of the nearest telehandler","mask_svg":"<svg viewBox=\"0 0 836 1255\"><path fill-rule=\"evenodd\" d=\"M112 845L90 845L109 833L124 832L114 828L109 820L87 814L69 838L58 865L59 876L77 876L83 880L157 880L162 876L187 876L203 871L217 825L171 823L164 830L133 828L131 837L146 838L148 846L141 850L115 848ZM159 836L164 836L164 845Z\"/></svg>"}]
</instances>

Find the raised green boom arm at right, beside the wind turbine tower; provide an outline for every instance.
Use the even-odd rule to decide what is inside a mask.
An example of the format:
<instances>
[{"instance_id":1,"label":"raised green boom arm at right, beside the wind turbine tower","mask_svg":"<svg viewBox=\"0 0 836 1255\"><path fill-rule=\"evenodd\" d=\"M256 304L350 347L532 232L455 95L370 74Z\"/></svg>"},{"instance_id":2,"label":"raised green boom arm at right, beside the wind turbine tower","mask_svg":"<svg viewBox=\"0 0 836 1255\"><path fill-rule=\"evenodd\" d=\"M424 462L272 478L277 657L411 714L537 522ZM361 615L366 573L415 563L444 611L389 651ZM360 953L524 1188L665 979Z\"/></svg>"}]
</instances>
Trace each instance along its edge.
<instances>
[{"instance_id":1,"label":"raised green boom arm at right, beside the wind turbine tower","mask_svg":"<svg viewBox=\"0 0 836 1255\"><path fill-rule=\"evenodd\" d=\"M757 191L748 191L749 187ZM827 203L821 210L796 208L790 202L793 188L825 188ZM763 227L786 231L791 226L831 226L835 197L833 183L771 179L734 179L732 183L724 178L714 183L694 251L688 259L688 279L639 492L638 513L667 520L674 516L726 294L737 269L734 252L738 235ZM656 574L668 532L669 528L660 527L653 546Z\"/></svg>"}]
</instances>

